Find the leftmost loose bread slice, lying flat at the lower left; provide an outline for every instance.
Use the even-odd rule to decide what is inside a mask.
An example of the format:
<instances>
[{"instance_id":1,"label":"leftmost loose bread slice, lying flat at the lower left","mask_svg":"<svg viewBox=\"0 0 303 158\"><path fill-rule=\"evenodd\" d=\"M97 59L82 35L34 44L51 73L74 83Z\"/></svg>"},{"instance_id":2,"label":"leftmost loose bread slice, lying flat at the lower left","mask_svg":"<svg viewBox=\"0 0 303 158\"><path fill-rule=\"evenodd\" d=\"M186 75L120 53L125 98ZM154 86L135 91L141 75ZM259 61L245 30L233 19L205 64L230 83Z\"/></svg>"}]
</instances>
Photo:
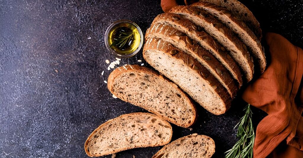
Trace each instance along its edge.
<instances>
[{"instance_id":1,"label":"leftmost loose bread slice, lying flat at the lower left","mask_svg":"<svg viewBox=\"0 0 303 158\"><path fill-rule=\"evenodd\" d=\"M87 138L84 148L90 156L104 156L119 151L156 147L170 142L171 125L149 113L124 114L100 125Z\"/></svg>"}]
</instances>

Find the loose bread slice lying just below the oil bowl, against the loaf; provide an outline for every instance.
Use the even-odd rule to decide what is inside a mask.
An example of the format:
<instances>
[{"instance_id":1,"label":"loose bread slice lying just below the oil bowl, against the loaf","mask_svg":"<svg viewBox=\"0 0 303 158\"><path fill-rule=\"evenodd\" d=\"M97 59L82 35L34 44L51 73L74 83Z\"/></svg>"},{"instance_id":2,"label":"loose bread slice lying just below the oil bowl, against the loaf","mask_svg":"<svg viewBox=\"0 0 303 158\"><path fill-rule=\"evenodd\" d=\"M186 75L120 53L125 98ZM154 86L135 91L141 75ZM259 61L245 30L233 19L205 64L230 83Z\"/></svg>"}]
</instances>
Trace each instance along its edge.
<instances>
[{"instance_id":1,"label":"loose bread slice lying just below the oil bowl, against the loaf","mask_svg":"<svg viewBox=\"0 0 303 158\"><path fill-rule=\"evenodd\" d=\"M116 68L108 77L112 94L181 127L191 126L196 110L177 85L151 69L138 65Z\"/></svg>"}]
</instances>

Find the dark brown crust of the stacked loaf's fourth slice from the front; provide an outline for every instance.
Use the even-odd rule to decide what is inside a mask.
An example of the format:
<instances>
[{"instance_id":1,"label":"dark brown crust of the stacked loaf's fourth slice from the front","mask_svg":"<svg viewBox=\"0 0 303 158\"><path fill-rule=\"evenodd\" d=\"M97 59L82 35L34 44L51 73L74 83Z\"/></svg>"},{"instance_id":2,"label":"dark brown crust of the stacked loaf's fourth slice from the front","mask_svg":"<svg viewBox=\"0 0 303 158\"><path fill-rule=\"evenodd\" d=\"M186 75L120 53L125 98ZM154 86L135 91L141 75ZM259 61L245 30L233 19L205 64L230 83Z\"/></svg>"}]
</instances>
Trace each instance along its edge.
<instances>
[{"instance_id":1,"label":"dark brown crust of the stacked loaf's fourth slice from the front","mask_svg":"<svg viewBox=\"0 0 303 158\"><path fill-rule=\"evenodd\" d=\"M237 49L237 50L231 50L232 53L233 52L236 53L239 51L240 54L238 54L238 55L241 55L243 62L248 64L245 66L249 66L249 69L245 69L244 67L242 67L244 69L243 71L246 72L245 73L246 79L248 81L250 81L252 79L253 72L254 72L254 64L250 58L250 54L249 54L248 50L245 49L245 47L244 47L245 45L243 44L243 42L241 40L239 40L238 37L236 37L235 34L229 28L225 27L220 21L216 20L212 15L209 15L206 11L203 11L198 8L194 8L194 7L190 7L190 6L176 6L176 7L172 8L170 10L170 12L176 13L176 14L181 14L181 15L194 16L195 18L198 18L201 21L204 21L205 23L209 24L210 26L213 26L219 34L221 34L221 32L219 30L224 31L224 37L226 38L226 40L229 41L228 45L233 44ZM198 12L199 14L194 15L193 14L194 12ZM213 36L211 34L212 32L209 32L209 31L206 31L206 32L208 32L208 34ZM225 44L222 44L222 45L225 45ZM231 56L232 55L235 55L235 54L231 54ZM237 61L237 60L235 60L235 61Z\"/></svg>"}]
</instances>

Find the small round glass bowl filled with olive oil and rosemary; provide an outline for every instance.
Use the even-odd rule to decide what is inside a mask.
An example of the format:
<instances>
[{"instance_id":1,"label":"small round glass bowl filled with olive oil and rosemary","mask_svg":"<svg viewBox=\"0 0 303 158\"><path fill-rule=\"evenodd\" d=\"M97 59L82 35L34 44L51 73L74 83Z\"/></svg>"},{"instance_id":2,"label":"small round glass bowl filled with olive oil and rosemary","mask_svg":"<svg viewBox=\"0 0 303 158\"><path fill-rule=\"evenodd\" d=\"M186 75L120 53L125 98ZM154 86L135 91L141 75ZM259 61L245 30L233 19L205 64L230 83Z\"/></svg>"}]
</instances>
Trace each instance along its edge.
<instances>
[{"instance_id":1,"label":"small round glass bowl filled with olive oil and rosemary","mask_svg":"<svg viewBox=\"0 0 303 158\"><path fill-rule=\"evenodd\" d=\"M140 27L129 20L115 21L107 28L104 36L107 49L120 58L137 54L142 48L143 40Z\"/></svg>"}]
</instances>

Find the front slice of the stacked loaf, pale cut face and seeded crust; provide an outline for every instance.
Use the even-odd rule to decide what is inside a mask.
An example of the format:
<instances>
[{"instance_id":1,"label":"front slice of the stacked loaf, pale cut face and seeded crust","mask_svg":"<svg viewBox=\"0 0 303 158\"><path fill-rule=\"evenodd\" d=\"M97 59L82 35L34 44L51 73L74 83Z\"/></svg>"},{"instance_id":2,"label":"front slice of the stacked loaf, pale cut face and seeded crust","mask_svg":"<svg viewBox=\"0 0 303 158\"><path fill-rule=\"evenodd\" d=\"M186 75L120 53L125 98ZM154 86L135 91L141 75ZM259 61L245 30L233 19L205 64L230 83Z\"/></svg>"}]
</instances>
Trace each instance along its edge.
<instances>
[{"instance_id":1,"label":"front slice of the stacked loaf, pale cut face and seeded crust","mask_svg":"<svg viewBox=\"0 0 303 158\"><path fill-rule=\"evenodd\" d=\"M231 97L221 83L192 56L168 42L148 39L143 57L211 113L223 114L230 107Z\"/></svg>"}]
</instances>

